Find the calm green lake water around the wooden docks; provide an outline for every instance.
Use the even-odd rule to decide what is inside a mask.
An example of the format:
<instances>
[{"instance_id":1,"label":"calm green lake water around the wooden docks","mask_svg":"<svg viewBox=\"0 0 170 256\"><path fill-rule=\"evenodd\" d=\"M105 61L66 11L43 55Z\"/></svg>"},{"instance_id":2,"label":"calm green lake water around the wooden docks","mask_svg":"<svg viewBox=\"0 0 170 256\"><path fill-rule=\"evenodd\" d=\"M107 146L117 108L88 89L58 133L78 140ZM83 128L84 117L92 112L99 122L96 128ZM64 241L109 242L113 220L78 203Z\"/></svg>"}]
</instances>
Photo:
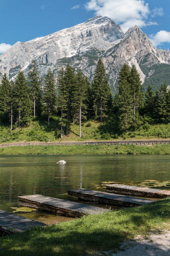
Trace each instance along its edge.
<instances>
[{"instance_id":1,"label":"calm green lake water around the wooden docks","mask_svg":"<svg viewBox=\"0 0 170 256\"><path fill-rule=\"evenodd\" d=\"M59 160L66 164L56 164ZM0 156L0 209L18 210L17 196L21 195L42 194L75 201L67 195L67 189L104 191L104 184L113 182L170 190L170 157ZM17 214L39 221L53 218L39 211ZM56 222L65 220L58 217Z\"/></svg>"}]
</instances>

